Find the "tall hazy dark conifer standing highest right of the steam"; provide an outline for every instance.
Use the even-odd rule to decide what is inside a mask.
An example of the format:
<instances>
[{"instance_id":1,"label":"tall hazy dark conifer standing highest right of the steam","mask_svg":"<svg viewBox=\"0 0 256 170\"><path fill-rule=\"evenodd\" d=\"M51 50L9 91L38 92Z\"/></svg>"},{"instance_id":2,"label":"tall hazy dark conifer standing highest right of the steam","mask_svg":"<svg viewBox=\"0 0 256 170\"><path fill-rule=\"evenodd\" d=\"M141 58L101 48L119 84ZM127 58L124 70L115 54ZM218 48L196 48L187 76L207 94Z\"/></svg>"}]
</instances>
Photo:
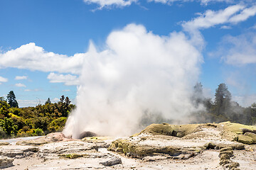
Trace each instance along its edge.
<instances>
[{"instance_id":1,"label":"tall hazy dark conifer standing highest right of the steam","mask_svg":"<svg viewBox=\"0 0 256 170\"><path fill-rule=\"evenodd\" d=\"M215 113L224 115L230 108L231 94L225 84L219 84L215 91Z\"/></svg>"}]
</instances>

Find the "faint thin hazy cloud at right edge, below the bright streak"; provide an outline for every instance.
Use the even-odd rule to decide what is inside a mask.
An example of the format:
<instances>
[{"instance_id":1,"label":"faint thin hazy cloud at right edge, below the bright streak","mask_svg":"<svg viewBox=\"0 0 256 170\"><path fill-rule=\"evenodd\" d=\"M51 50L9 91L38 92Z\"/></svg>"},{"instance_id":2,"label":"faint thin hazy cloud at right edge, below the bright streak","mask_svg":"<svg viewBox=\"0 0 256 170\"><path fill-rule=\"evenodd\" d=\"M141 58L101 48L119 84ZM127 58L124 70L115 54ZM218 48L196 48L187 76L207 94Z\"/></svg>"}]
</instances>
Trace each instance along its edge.
<instances>
[{"instance_id":1,"label":"faint thin hazy cloud at right edge, below the bright streak","mask_svg":"<svg viewBox=\"0 0 256 170\"><path fill-rule=\"evenodd\" d=\"M227 64L256 64L256 33L226 36L220 46L218 55Z\"/></svg>"}]
</instances>

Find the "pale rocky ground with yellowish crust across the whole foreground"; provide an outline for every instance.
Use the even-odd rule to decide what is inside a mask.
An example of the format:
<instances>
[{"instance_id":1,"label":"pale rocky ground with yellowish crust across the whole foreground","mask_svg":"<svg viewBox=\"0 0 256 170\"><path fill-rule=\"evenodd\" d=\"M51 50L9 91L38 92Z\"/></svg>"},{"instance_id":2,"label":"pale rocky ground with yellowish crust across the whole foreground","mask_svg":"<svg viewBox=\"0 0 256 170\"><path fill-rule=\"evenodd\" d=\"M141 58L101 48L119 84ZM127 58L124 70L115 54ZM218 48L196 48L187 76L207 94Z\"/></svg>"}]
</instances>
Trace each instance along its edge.
<instances>
[{"instance_id":1,"label":"pale rocky ground with yellowish crust across the whole foreground","mask_svg":"<svg viewBox=\"0 0 256 170\"><path fill-rule=\"evenodd\" d=\"M255 126L152 124L132 137L0 142L2 169L256 169Z\"/></svg>"}]
</instances>

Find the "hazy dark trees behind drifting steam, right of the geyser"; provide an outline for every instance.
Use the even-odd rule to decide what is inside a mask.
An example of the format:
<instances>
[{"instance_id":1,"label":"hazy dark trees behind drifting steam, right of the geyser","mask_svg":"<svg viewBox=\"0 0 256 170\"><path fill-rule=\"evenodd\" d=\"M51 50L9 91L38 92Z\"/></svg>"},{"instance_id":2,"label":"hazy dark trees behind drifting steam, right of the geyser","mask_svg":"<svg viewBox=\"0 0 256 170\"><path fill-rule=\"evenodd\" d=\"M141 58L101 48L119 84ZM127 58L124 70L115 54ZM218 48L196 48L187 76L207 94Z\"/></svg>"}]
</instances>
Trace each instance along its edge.
<instances>
[{"instance_id":1,"label":"hazy dark trees behind drifting steam, right of the geyser","mask_svg":"<svg viewBox=\"0 0 256 170\"><path fill-rule=\"evenodd\" d=\"M205 123L231 121L245 125L256 124L256 103L244 108L237 102L232 101L232 95L228 86L222 83L215 89L214 101L203 96L203 85L197 83L193 88L191 101L196 108L203 106L203 110L192 113L196 117L194 122Z\"/></svg>"}]
</instances>

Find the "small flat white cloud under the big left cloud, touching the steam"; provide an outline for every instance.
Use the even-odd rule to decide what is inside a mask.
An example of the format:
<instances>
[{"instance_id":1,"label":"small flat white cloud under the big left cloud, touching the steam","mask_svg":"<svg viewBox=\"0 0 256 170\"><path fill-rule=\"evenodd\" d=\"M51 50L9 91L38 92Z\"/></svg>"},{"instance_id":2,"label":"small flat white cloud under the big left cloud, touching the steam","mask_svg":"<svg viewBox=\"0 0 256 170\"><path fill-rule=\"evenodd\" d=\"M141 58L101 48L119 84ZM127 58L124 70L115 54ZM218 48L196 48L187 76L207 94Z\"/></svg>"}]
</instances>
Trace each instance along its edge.
<instances>
[{"instance_id":1,"label":"small flat white cloud under the big left cloud, touching the steam","mask_svg":"<svg viewBox=\"0 0 256 170\"><path fill-rule=\"evenodd\" d=\"M48 74L47 79L50 79L50 83L64 83L67 86L78 85L78 77L71 74L55 74L51 72Z\"/></svg>"}]
</instances>

